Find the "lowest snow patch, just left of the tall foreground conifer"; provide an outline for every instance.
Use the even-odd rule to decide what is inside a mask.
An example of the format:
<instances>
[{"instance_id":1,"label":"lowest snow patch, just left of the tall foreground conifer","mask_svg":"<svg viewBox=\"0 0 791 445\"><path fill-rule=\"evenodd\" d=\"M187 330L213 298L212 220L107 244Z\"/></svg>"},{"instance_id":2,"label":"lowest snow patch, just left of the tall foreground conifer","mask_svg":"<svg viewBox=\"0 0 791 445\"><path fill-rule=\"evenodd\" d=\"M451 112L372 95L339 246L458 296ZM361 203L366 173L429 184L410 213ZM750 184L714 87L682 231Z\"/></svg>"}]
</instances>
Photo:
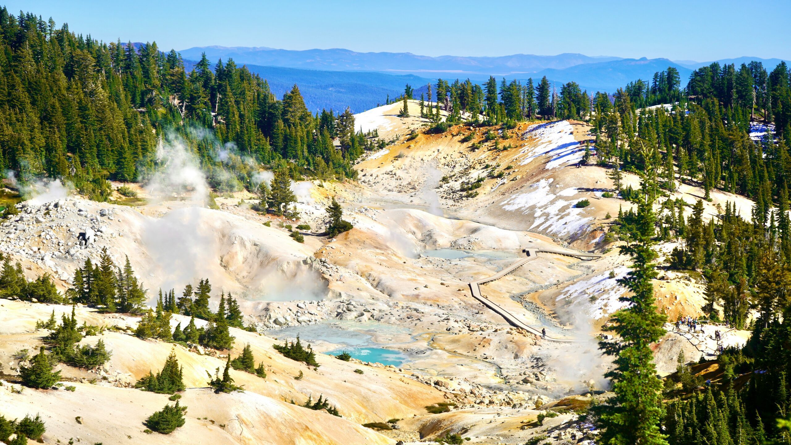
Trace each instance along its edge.
<instances>
[{"instance_id":1,"label":"lowest snow patch, just left of the tall foreground conifer","mask_svg":"<svg viewBox=\"0 0 791 445\"><path fill-rule=\"evenodd\" d=\"M615 276L612 278L608 272L571 284L563 290L562 294L558 295L556 301L566 302L567 306L571 306L573 309L581 308L585 311L586 316L595 320L623 309L627 303L620 301L619 298L626 292L626 288L622 287L617 280L626 276L629 268L618 266L613 269L613 272Z\"/></svg>"}]
</instances>

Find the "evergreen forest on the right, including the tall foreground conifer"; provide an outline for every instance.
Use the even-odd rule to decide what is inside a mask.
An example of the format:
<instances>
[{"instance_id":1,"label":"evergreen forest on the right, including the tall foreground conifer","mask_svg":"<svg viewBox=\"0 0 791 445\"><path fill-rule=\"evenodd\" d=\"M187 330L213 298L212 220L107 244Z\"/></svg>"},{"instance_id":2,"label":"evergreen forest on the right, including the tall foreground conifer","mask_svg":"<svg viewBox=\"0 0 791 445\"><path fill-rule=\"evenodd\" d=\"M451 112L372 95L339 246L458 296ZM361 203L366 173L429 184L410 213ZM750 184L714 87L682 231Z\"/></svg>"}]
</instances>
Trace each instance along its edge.
<instances>
[{"instance_id":1,"label":"evergreen forest on the right, including the tall foreground conifer","mask_svg":"<svg viewBox=\"0 0 791 445\"><path fill-rule=\"evenodd\" d=\"M588 120L596 139L583 163L607 169L625 207L638 207L625 208L615 223L626 242L623 251L635 259L634 272L621 280L634 296L625 297L632 306L612 320L619 341L602 344L619 363L608 375L616 396L596 413L607 430L604 443L789 443L788 424L776 421L788 417L791 407L789 83L785 63L767 71L751 62L712 63L688 80L668 67L613 94L589 94L574 82L554 93L547 78L538 86L532 79L498 86L490 78L483 88L469 81L426 87L439 96L450 121L471 112L468 123L483 115L483 124L502 124L507 131L518 120L539 117ZM623 186L625 171L641 178L640 188ZM700 187L702 196L671 199L679 182ZM727 203L707 221L703 201L715 188L755 205ZM655 398L657 382L635 377L655 374L647 344L659 338L655 329L661 325L651 315L651 245L657 242L676 243L664 268L705 278L702 310L710 321L752 330L743 349L721 352L716 382L694 378L679 359L679 372L664 384L664 401ZM755 315L749 322L748 314Z\"/></svg>"}]
</instances>

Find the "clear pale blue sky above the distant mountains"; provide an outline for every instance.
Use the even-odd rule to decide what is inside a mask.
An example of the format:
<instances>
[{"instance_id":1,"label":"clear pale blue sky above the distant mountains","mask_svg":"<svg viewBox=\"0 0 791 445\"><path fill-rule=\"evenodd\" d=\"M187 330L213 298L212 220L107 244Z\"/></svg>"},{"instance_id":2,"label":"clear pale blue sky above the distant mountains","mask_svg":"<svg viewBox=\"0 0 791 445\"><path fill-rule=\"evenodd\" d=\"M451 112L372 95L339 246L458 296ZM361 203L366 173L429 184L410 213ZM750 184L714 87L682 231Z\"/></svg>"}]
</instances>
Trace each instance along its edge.
<instances>
[{"instance_id":1,"label":"clear pale blue sky above the distant mountains","mask_svg":"<svg viewBox=\"0 0 791 445\"><path fill-rule=\"evenodd\" d=\"M791 59L791 2L0 0L100 40L160 48L347 48L419 55Z\"/></svg>"}]
</instances>

